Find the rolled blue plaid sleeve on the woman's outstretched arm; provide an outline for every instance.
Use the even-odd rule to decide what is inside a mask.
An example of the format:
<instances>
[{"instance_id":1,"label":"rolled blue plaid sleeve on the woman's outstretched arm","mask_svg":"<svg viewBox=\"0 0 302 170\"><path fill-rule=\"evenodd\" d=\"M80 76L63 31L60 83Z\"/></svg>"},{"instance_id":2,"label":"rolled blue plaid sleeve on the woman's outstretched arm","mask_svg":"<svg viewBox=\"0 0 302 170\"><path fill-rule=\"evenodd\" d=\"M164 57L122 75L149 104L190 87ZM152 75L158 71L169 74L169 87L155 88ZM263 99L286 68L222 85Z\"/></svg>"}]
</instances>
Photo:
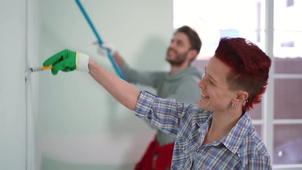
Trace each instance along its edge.
<instances>
[{"instance_id":1,"label":"rolled blue plaid sleeve on the woman's outstretched arm","mask_svg":"<svg viewBox=\"0 0 302 170\"><path fill-rule=\"evenodd\" d=\"M158 98L142 91L137 105L136 116L150 123L166 134L177 136L182 116L196 104L176 102L175 99Z\"/></svg>"}]
</instances>

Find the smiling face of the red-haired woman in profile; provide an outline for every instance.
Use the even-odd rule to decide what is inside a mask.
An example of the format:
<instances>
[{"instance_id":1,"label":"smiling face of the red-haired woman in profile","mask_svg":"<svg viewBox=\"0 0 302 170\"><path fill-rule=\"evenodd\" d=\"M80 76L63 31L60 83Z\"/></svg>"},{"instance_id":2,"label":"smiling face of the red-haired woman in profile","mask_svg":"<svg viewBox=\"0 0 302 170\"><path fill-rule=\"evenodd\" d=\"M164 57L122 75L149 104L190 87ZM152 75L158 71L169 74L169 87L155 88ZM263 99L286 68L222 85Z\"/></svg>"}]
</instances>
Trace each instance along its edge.
<instances>
[{"instance_id":1,"label":"smiling face of the red-haired woman in profile","mask_svg":"<svg viewBox=\"0 0 302 170\"><path fill-rule=\"evenodd\" d=\"M205 75L198 83L202 90L198 103L200 108L214 112L225 112L231 109L236 92L229 90L226 80L229 73L230 68L215 56L209 60Z\"/></svg>"}]
</instances>

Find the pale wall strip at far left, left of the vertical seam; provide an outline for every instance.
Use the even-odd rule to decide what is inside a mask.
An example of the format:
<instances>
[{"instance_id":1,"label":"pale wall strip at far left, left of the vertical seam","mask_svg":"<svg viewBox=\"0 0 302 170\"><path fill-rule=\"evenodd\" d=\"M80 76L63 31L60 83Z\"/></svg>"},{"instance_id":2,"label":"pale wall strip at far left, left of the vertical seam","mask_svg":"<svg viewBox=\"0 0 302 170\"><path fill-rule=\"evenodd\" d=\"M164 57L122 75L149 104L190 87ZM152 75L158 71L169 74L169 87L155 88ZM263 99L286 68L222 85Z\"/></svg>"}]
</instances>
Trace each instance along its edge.
<instances>
[{"instance_id":1,"label":"pale wall strip at far left, left of the vertical seam","mask_svg":"<svg viewBox=\"0 0 302 170\"><path fill-rule=\"evenodd\" d=\"M25 1L3 1L0 18L0 169L25 169Z\"/></svg>"}]
</instances>

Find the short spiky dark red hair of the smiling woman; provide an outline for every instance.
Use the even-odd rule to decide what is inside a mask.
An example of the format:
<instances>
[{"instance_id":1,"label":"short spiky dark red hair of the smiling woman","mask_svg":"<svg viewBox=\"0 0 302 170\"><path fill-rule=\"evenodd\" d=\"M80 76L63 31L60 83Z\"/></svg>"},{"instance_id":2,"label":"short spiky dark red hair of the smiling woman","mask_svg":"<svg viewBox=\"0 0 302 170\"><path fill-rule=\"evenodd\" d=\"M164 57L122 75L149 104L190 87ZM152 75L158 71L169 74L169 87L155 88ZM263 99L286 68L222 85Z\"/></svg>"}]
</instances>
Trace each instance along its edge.
<instances>
[{"instance_id":1,"label":"short spiky dark red hair of the smiling woman","mask_svg":"<svg viewBox=\"0 0 302 170\"><path fill-rule=\"evenodd\" d=\"M244 38L223 37L215 50L215 57L231 68L227 81L230 90L247 91L244 111L261 102L268 83L271 59L251 41Z\"/></svg>"}]
</instances>

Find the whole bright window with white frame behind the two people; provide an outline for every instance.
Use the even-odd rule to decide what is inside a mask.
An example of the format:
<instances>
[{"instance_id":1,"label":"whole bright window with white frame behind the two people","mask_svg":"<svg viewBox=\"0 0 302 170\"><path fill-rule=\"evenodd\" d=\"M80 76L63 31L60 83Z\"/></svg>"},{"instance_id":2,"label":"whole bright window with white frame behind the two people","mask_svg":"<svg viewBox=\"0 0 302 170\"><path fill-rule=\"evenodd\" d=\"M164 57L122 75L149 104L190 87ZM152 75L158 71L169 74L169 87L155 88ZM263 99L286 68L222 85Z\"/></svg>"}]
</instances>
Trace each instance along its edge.
<instances>
[{"instance_id":1,"label":"whole bright window with white frame behind the two people","mask_svg":"<svg viewBox=\"0 0 302 170\"><path fill-rule=\"evenodd\" d=\"M265 51L266 2L274 6L274 90L267 92L274 101L255 105L250 115L271 146L273 168L302 169L302 1L174 0L174 28L188 25L199 33L203 47L193 65L203 69L223 36L247 38ZM264 115L267 108L274 110L271 121ZM273 129L265 129L267 125Z\"/></svg>"}]
</instances>

